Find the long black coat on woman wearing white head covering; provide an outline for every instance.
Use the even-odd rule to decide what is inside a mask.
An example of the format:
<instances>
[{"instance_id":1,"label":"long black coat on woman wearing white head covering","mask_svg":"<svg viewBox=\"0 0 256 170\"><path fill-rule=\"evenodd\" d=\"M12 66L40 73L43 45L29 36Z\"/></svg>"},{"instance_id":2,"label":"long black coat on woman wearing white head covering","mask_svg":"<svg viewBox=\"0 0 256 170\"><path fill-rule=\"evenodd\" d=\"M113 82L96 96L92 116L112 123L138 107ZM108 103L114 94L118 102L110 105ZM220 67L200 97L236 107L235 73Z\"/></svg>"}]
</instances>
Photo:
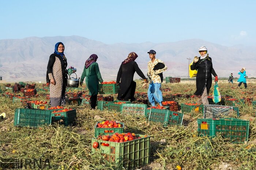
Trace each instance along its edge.
<instances>
[{"instance_id":1,"label":"long black coat on woman wearing white head covering","mask_svg":"<svg viewBox=\"0 0 256 170\"><path fill-rule=\"evenodd\" d=\"M194 95L202 95L204 88L207 88L207 94L209 94L211 83L212 83L212 77L211 74L215 77L217 74L215 73L213 67L212 67L212 61L211 58L202 60L199 57L198 62L193 62L193 64L190 66L191 70L197 70L196 74L196 92Z\"/></svg>"}]
</instances>

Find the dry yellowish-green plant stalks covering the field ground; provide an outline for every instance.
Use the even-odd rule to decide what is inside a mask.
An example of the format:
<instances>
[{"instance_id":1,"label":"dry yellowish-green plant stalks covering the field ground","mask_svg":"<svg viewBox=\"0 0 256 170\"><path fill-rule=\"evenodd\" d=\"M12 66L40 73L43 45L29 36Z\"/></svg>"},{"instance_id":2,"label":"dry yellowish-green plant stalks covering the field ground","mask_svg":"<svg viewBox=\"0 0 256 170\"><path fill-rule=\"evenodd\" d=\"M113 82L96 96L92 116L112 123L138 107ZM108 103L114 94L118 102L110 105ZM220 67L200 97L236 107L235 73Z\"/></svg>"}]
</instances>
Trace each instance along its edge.
<instances>
[{"instance_id":1,"label":"dry yellowish-green plant stalks covering the field ground","mask_svg":"<svg viewBox=\"0 0 256 170\"><path fill-rule=\"evenodd\" d=\"M233 87L236 85L233 84ZM255 83L248 84L247 89L233 89L231 86L219 83L221 94L255 99ZM162 84L162 88L170 88L170 91L163 92L163 96L177 93L192 95L195 83L167 83ZM5 92L3 84L1 89ZM146 92L139 85L136 90ZM45 97L34 99L45 100ZM194 98L176 100L179 104L196 101ZM91 138L94 136L94 125L98 121L94 116L98 115L102 120L124 122L125 132L151 136L150 165L142 169L174 169L176 165L181 165L183 170L214 170L223 163L232 169L256 169L256 120L251 104L239 106L241 118L250 121L249 142L243 144L226 142L221 136L197 137L196 119L202 115L195 112L184 115L185 126L163 128L159 123L148 122L143 116L122 115L108 110L93 111L89 106L68 105L68 108L76 108L75 126L53 124L29 128L13 126L14 110L23 108L22 104L12 104L11 99L0 97L0 107L1 112L7 115L7 119L0 122L0 156L4 158L49 158L51 165L58 165L60 169L121 169L98 155L91 155Z\"/></svg>"}]
</instances>

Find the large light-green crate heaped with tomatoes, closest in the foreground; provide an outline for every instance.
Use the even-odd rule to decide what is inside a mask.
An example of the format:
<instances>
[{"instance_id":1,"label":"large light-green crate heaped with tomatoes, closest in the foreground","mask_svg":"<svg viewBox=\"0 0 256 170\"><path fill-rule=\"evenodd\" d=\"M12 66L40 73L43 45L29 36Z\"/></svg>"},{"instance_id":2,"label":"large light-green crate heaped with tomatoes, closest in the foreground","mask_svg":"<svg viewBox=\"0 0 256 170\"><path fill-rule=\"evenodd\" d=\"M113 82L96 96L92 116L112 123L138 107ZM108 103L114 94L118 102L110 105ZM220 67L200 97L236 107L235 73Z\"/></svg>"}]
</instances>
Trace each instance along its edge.
<instances>
[{"instance_id":1,"label":"large light-green crate heaped with tomatoes, closest in the foreground","mask_svg":"<svg viewBox=\"0 0 256 170\"><path fill-rule=\"evenodd\" d=\"M115 133L91 140L91 153L125 169L136 169L149 163L150 136L134 133Z\"/></svg>"}]
</instances>

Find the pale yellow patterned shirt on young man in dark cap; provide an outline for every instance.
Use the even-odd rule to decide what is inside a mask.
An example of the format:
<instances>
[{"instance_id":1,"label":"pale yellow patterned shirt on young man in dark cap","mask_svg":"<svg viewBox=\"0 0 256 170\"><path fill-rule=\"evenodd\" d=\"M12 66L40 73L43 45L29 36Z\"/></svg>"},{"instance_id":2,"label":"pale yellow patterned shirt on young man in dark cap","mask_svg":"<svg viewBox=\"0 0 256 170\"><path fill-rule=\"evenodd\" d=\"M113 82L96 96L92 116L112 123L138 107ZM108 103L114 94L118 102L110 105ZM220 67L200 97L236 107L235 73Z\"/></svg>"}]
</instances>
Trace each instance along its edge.
<instances>
[{"instance_id":1,"label":"pale yellow patterned shirt on young man in dark cap","mask_svg":"<svg viewBox=\"0 0 256 170\"><path fill-rule=\"evenodd\" d=\"M153 68L157 63L163 63L161 60L159 59L155 59L155 61L152 63L151 60L148 62L147 68L147 76L150 79L150 83L153 81L154 83L161 83L161 78L158 74L160 74L161 72L164 72L165 70L167 70L167 66L165 65L165 68L159 69L154 71ZM164 64L164 63L163 63Z\"/></svg>"}]
</instances>

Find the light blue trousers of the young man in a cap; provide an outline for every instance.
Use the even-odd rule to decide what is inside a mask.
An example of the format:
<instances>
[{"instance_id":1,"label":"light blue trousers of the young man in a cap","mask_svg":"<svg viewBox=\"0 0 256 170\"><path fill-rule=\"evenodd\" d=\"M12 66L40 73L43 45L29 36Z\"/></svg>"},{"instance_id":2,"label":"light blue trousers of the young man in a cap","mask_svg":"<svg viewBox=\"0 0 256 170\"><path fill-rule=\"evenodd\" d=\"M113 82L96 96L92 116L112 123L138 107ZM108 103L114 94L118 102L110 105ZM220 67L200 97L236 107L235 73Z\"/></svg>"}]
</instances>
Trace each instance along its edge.
<instances>
[{"instance_id":1,"label":"light blue trousers of the young man in a cap","mask_svg":"<svg viewBox=\"0 0 256 170\"><path fill-rule=\"evenodd\" d=\"M160 106L162 106L163 101L163 95L162 91L160 90L161 83L149 83L148 85L148 101L152 104L152 106L155 106L155 101L159 103Z\"/></svg>"}]
</instances>

